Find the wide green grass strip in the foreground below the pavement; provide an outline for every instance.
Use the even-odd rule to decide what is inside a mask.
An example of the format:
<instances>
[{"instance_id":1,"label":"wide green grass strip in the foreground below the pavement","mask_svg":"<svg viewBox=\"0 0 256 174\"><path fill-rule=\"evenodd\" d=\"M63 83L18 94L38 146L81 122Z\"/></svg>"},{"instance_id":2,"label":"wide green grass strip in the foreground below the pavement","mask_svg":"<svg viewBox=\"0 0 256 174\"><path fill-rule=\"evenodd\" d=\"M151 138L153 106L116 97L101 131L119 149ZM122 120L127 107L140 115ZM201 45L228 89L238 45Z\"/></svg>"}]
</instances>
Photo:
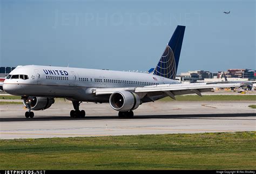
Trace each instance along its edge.
<instances>
[{"instance_id":1,"label":"wide green grass strip in the foreground below the pavement","mask_svg":"<svg viewBox=\"0 0 256 174\"><path fill-rule=\"evenodd\" d=\"M0 169L253 170L255 133L0 140Z\"/></svg>"}]
</instances>

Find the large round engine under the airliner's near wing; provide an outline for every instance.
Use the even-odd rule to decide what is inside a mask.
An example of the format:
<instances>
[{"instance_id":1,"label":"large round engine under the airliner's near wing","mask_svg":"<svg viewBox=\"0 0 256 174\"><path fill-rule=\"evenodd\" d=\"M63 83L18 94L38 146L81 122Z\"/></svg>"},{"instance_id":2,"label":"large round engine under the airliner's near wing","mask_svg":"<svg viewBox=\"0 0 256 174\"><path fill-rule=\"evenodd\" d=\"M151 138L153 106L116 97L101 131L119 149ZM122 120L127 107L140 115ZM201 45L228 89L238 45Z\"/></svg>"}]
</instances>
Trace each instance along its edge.
<instances>
[{"instance_id":1,"label":"large round engine under the airliner's near wing","mask_svg":"<svg viewBox=\"0 0 256 174\"><path fill-rule=\"evenodd\" d=\"M139 96L129 91L118 91L110 95L110 106L117 111L127 112L137 109L140 105Z\"/></svg>"}]
</instances>

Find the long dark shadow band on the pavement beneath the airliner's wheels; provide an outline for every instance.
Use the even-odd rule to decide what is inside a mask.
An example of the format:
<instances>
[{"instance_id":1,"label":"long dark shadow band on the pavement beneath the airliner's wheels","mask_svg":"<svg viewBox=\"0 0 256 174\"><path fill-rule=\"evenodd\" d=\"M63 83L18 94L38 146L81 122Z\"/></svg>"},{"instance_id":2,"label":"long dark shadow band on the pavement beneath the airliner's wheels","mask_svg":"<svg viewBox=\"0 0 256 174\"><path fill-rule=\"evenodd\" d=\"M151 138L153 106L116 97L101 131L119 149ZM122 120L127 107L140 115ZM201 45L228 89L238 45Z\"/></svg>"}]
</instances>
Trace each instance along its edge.
<instances>
[{"instance_id":1,"label":"long dark shadow band on the pavement beneath the airliner's wheels","mask_svg":"<svg viewBox=\"0 0 256 174\"><path fill-rule=\"evenodd\" d=\"M181 114L181 115L135 115L132 119L203 119L203 120L256 120L246 117L256 116L256 113L239 114ZM237 118L244 117L244 118ZM33 119L26 119L24 116L0 117L0 122L12 121L70 121L70 120L132 120L129 118L118 118L118 116L85 116L85 118L71 118L70 116L35 116Z\"/></svg>"}]
</instances>

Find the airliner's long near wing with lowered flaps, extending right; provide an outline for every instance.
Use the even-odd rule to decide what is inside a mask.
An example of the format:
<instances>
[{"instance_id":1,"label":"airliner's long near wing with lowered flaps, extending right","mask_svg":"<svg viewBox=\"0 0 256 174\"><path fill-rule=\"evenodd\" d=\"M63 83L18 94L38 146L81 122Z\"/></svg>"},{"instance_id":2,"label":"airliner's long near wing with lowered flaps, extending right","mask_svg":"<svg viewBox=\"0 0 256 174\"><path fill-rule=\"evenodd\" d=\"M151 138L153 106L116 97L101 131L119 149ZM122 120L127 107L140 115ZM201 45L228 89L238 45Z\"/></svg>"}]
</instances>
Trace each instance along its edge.
<instances>
[{"instance_id":1,"label":"airliner's long near wing with lowered flaps, extending right","mask_svg":"<svg viewBox=\"0 0 256 174\"><path fill-rule=\"evenodd\" d=\"M207 84L207 83L190 83L190 84L165 84L153 85L145 87L130 87L130 88L96 88L92 90L95 95L112 94L117 91L130 91L138 94L141 98L145 95L166 95L175 99L175 95L197 94L201 96L202 92L210 92L217 87L240 87L240 83L225 83L225 84Z\"/></svg>"}]
</instances>

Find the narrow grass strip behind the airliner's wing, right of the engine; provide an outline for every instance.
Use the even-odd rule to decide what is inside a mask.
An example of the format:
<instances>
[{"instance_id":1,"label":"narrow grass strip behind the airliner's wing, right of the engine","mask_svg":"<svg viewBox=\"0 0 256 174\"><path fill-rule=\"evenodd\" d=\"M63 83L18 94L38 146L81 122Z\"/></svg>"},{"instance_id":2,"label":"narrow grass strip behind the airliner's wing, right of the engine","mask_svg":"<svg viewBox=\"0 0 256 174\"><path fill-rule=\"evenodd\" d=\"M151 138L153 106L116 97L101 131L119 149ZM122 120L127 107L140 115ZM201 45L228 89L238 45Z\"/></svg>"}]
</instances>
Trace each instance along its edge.
<instances>
[{"instance_id":1,"label":"narrow grass strip behind the airliner's wing, right of the engine","mask_svg":"<svg viewBox=\"0 0 256 174\"><path fill-rule=\"evenodd\" d=\"M256 95L178 95L177 101L256 101ZM159 101L175 101L169 97Z\"/></svg>"}]
</instances>

